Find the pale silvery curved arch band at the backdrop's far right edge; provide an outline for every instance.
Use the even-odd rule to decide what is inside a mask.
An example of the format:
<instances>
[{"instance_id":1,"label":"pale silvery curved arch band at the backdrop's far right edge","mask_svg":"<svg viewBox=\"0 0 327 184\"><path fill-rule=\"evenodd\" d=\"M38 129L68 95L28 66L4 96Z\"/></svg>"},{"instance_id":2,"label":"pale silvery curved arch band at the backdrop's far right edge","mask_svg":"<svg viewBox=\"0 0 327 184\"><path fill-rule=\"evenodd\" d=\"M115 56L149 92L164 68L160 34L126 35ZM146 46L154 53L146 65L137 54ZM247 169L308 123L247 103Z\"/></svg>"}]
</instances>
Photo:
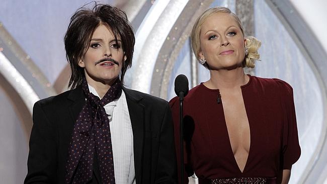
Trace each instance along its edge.
<instances>
[{"instance_id":1,"label":"pale silvery curved arch band at the backdrop's far right edge","mask_svg":"<svg viewBox=\"0 0 327 184\"><path fill-rule=\"evenodd\" d=\"M320 136L298 183L322 183L327 179L323 174L327 172L325 165L327 162L327 113L325 113L327 109L327 63L325 62L327 53L290 1L265 0L265 2L285 26L306 58L321 90L319 95L321 95L324 113L322 113L322 123L318 132Z\"/></svg>"}]
</instances>

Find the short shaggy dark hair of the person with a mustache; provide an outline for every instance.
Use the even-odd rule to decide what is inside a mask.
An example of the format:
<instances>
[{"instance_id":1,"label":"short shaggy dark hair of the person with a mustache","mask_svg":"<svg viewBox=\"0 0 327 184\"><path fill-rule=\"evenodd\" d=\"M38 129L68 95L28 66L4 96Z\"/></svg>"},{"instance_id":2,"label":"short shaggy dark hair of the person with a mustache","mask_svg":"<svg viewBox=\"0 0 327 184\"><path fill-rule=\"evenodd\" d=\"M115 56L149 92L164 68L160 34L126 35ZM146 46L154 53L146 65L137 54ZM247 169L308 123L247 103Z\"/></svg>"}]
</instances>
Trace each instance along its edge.
<instances>
[{"instance_id":1,"label":"short shaggy dark hair of the person with a mustache","mask_svg":"<svg viewBox=\"0 0 327 184\"><path fill-rule=\"evenodd\" d=\"M120 80L124 83L125 72L132 65L135 44L133 28L122 10L110 5L96 4L93 9L84 6L74 13L64 37L66 58L71 69L68 86L71 88L79 85L85 76L84 68L78 65L78 61L85 55L92 35L100 25L107 26L116 41L118 35L121 38L122 49L126 56L120 75Z\"/></svg>"}]
</instances>

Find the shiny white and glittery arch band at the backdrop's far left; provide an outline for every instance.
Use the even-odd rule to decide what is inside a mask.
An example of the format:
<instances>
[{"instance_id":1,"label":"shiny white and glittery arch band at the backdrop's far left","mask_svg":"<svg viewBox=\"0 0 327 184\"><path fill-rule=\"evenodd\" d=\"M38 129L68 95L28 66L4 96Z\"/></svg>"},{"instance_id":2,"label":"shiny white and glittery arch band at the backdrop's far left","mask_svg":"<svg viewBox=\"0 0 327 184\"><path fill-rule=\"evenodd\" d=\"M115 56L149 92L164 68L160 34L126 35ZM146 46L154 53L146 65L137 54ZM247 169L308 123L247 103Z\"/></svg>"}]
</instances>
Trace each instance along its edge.
<instances>
[{"instance_id":1,"label":"shiny white and glittery arch band at the backdrop's far left","mask_svg":"<svg viewBox=\"0 0 327 184\"><path fill-rule=\"evenodd\" d=\"M16 108L16 114L21 117L28 138L32 128L34 103L40 98L55 95L55 92L41 70L2 23L0 23L0 76L2 87Z\"/></svg>"}]
</instances>

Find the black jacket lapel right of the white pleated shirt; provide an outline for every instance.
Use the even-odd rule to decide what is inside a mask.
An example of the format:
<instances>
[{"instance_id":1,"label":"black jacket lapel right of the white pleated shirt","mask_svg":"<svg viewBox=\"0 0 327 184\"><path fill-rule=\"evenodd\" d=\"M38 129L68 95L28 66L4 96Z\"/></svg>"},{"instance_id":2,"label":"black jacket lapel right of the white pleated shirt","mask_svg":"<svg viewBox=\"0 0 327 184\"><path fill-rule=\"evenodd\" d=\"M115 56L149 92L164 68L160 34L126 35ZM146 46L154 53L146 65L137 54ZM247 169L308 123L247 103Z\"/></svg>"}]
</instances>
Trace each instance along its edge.
<instances>
[{"instance_id":1,"label":"black jacket lapel right of the white pleated shirt","mask_svg":"<svg viewBox=\"0 0 327 184\"><path fill-rule=\"evenodd\" d=\"M133 130L134 164L136 183L142 182L143 143L144 143L144 106L135 91L123 87Z\"/></svg>"}]
</instances>

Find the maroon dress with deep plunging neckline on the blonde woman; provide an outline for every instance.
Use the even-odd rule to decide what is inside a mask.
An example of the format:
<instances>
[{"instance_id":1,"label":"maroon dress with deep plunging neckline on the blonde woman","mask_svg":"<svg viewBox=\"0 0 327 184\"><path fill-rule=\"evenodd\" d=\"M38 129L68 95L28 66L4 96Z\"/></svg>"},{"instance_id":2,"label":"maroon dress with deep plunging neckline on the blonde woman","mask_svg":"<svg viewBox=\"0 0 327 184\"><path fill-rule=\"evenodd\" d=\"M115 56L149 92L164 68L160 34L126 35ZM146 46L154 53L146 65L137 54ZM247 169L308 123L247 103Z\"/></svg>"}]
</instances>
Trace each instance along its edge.
<instances>
[{"instance_id":1,"label":"maroon dress with deep plunging neckline on the blonde woman","mask_svg":"<svg viewBox=\"0 0 327 184\"><path fill-rule=\"evenodd\" d=\"M222 103L217 103L219 89L209 89L201 83L189 91L183 106L187 181L187 175L193 171L199 179L273 178L279 171L290 169L298 160L301 151L292 87L280 79L250 76L250 81L240 88L251 134L249 156L243 172L231 149ZM179 99L172 99L170 105L177 158L180 160Z\"/></svg>"}]
</instances>

